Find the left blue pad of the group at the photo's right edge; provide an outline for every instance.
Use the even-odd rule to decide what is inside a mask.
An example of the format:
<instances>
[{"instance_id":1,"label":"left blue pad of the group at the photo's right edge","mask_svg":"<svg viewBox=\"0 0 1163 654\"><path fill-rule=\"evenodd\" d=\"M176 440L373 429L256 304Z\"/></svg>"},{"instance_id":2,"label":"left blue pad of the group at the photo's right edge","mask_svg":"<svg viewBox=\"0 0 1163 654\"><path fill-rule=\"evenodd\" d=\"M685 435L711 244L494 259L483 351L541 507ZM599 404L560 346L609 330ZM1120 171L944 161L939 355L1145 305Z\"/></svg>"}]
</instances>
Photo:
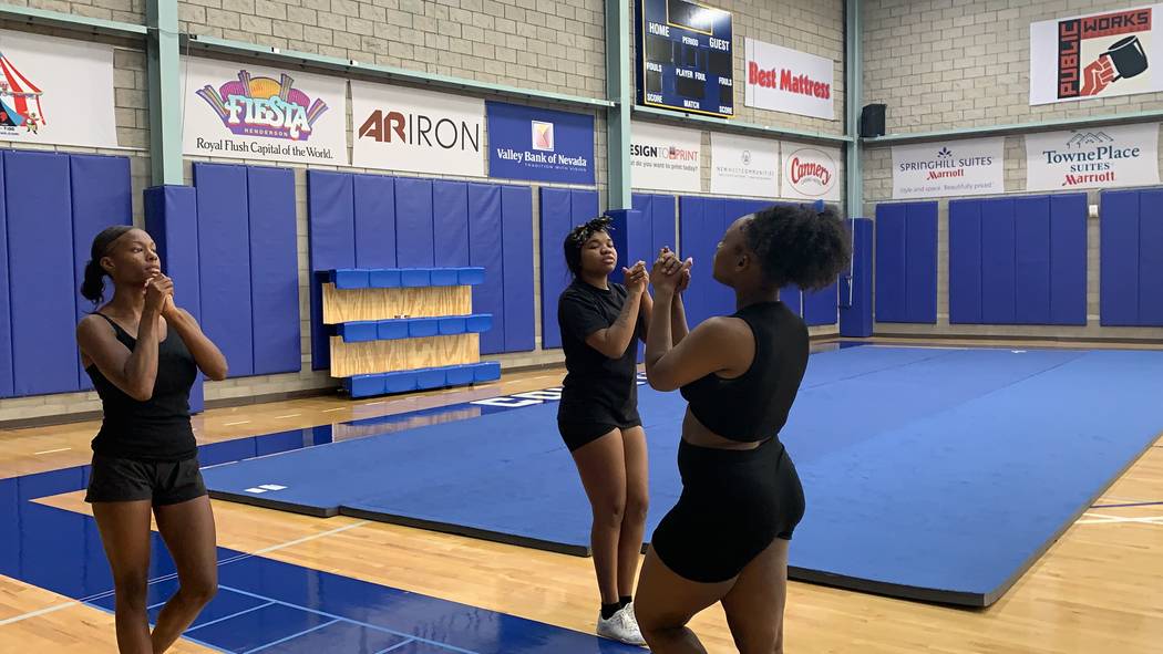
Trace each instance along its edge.
<instances>
[{"instance_id":1,"label":"left blue pad of the group at the photo's right edge","mask_svg":"<svg viewBox=\"0 0 1163 654\"><path fill-rule=\"evenodd\" d=\"M1101 324L1134 326L1139 324L1139 192L1104 191L1100 206Z\"/></svg>"}]
</instances>

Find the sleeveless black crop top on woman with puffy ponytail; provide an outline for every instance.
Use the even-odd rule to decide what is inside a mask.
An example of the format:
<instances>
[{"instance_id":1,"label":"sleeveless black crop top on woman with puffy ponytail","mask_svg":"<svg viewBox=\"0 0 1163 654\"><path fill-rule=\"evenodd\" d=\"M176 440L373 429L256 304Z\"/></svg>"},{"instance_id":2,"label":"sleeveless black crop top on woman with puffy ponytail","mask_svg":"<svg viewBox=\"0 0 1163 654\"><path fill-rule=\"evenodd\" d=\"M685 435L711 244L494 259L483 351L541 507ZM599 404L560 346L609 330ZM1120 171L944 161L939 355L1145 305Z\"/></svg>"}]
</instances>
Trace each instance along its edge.
<instances>
[{"instance_id":1,"label":"sleeveless black crop top on woman with puffy ponytail","mask_svg":"<svg viewBox=\"0 0 1163 654\"><path fill-rule=\"evenodd\" d=\"M732 315L755 337L755 359L745 373L714 373L683 387L691 414L714 433L743 443L779 436L807 368L807 325L783 302L763 302Z\"/></svg>"}]
</instances>

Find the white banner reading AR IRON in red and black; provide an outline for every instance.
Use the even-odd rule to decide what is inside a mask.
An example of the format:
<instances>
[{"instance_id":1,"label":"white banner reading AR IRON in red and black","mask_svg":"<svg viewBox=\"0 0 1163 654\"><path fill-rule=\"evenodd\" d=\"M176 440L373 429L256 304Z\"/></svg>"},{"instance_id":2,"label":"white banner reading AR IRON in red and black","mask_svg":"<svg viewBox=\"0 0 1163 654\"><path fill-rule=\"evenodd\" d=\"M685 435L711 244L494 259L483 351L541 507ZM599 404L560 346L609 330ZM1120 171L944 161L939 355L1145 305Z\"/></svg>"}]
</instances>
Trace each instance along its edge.
<instances>
[{"instance_id":1,"label":"white banner reading AR IRON in red and black","mask_svg":"<svg viewBox=\"0 0 1163 654\"><path fill-rule=\"evenodd\" d=\"M351 82L351 165L485 177L485 101Z\"/></svg>"}]
</instances>

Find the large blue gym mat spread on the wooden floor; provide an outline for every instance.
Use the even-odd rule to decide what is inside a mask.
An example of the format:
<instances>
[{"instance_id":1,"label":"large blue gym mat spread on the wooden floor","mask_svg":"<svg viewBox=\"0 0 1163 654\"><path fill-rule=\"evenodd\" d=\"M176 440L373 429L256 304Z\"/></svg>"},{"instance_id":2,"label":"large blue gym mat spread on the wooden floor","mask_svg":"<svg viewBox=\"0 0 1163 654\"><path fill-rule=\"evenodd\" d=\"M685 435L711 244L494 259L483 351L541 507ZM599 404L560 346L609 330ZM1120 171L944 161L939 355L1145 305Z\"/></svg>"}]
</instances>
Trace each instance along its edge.
<instances>
[{"instance_id":1,"label":"large blue gym mat spread on the wooden floor","mask_svg":"<svg viewBox=\"0 0 1163 654\"><path fill-rule=\"evenodd\" d=\"M790 576L987 606L1163 431L1160 397L1156 352L813 354L783 431L807 496ZM640 388L648 534L678 497L684 409L677 393ZM550 402L492 412L205 477L217 498L585 555L590 508L556 411Z\"/></svg>"}]
</instances>

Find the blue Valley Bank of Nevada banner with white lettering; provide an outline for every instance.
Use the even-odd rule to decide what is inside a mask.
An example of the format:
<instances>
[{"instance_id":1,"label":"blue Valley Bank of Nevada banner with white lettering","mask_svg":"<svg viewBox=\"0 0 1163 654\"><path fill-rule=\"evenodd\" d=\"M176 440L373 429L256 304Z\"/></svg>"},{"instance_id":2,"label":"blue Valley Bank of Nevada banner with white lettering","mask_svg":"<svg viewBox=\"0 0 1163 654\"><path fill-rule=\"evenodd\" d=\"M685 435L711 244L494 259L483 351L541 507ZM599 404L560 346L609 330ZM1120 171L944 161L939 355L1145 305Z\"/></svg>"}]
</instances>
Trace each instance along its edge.
<instances>
[{"instance_id":1,"label":"blue Valley Bank of Nevada banner with white lettering","mask_svg":"<svg viewBox=\"0 0 1163 654\"><path fill-rule=\"evenodd\" d=\"M593 186L593 115L485 103L488 177Z\"/></svg>"}]
</instances>

